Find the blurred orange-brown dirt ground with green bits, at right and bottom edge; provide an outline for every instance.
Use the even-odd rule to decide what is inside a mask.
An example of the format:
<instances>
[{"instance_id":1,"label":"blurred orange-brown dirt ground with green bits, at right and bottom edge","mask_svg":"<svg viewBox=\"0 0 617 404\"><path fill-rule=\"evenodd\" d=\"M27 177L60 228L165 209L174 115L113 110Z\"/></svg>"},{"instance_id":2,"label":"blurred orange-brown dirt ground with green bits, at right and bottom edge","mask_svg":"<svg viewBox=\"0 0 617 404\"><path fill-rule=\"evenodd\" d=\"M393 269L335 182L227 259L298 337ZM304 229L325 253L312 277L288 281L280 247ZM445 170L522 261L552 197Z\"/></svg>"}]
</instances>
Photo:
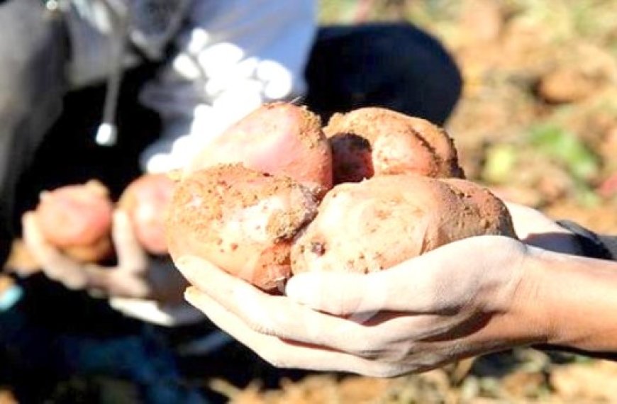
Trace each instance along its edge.
<instances>
[{"instance_id":1,"label":"blurred orange-brown dirt ground with green bits, at right and bottom edge","mask_svg":"<svg viewBox=\"0 0 617 404\"><path fill-rule=\"evenodd\" d=\"M322 1L321 12L347 23L406 18L440 38L465 79L447 128L467 176L552 218L617 233L615 1ZM517 349L394 379L208 383L235 404L615 403L616 379L610 361Z\"/></svg>"}]
</instances>

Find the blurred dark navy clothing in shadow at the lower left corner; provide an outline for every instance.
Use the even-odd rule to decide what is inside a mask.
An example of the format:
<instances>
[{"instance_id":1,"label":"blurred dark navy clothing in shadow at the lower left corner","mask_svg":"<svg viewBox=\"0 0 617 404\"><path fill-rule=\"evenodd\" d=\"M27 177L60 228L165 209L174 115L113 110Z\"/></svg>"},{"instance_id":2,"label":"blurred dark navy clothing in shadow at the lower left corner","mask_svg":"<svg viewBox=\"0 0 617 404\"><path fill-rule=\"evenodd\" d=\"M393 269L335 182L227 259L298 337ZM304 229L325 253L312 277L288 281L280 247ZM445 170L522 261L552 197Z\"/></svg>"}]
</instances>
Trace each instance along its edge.
<instances>
[{"instance_id":1,"label":"blurred dark navy clothing in shadow at the lower left corner","mask_svg":"<svg viewBox=\"0 0 617 404\"><path fill-rule=\"evenodd\" d=\"M198 388L182 380L155 327L43 275L19 285L25 296L10 310L0 310L0 385L14 388L20 403L48 402L56 395L55 403L62 395L57 384L76 375L130 382L135 400L123 403L205 403ZM103 402L101 392L89 396L93 400L79 402Z\"/></svg>"}]
</instances>

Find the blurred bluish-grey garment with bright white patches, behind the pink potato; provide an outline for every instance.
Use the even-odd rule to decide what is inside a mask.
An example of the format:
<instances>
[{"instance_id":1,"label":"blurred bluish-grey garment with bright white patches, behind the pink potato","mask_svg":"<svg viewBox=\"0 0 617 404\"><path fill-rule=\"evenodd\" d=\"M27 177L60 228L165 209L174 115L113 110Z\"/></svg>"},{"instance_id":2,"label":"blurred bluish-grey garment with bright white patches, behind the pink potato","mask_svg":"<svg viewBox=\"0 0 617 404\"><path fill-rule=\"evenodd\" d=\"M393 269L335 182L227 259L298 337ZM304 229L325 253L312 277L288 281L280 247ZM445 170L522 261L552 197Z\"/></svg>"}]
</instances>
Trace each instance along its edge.
<instances>
[{"instance_id":1,"label":"blurred bluish-grey garment with bright white patches, behind the pink potato","mask_svg":"<svg viewBox=\"0 0 617 404\"><path fill-rule=\"evenodd\" d=\"M179 52L141 94L163 121L162 137L140 157L147 172L182 167L257 106L305 91L316 1L193 3L176 43Z\"/></svg>"}]
</instances>

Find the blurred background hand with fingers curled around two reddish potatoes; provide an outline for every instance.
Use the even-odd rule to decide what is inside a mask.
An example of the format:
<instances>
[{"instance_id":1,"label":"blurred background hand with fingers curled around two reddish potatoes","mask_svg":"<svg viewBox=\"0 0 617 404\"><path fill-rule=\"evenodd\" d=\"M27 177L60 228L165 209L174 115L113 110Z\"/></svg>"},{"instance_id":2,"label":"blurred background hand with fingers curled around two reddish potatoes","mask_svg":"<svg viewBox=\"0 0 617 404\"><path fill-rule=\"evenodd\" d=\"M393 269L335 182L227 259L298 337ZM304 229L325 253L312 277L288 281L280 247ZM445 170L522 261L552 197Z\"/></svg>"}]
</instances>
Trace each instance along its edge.
<instances>
[{"instance_id":1,"label":"blurred background hand with fingers curled around two reddish potatoes","mask_svg":"<svg viewBox=\"0 0 617 404\"><path fill-rule=\"evenodd\" d=\"M71 289L86 289L96 296L151 299L178 303L186 281L168 257L150 257L135 239L126 213L113 215L112 239L116 266L82 264L56 249L41 234L33 213L23 216L23 239L42 271Z\"/></svg>"}]
</instances>

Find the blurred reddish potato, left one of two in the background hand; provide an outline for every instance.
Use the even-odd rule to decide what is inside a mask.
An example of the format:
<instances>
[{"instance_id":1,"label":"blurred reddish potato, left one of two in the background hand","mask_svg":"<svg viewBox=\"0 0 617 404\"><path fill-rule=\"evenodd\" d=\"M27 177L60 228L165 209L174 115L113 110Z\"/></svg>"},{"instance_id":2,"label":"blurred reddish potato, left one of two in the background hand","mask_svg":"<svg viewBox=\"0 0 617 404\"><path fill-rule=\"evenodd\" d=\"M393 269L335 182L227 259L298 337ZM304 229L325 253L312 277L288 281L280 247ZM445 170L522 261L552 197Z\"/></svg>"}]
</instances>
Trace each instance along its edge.
<instances>
[{"instance_id":1,"label":"blurred reddish potato, left one of two in the background hand","mask_svg":"<svg viewBox=\"0 0 617 404\"><path fill-rule=\"evenodd\" d=\"M113 202L99 181L41 193L35 218L45 240L79 262L111 257Z\"/></svg>"}]
</instances>

